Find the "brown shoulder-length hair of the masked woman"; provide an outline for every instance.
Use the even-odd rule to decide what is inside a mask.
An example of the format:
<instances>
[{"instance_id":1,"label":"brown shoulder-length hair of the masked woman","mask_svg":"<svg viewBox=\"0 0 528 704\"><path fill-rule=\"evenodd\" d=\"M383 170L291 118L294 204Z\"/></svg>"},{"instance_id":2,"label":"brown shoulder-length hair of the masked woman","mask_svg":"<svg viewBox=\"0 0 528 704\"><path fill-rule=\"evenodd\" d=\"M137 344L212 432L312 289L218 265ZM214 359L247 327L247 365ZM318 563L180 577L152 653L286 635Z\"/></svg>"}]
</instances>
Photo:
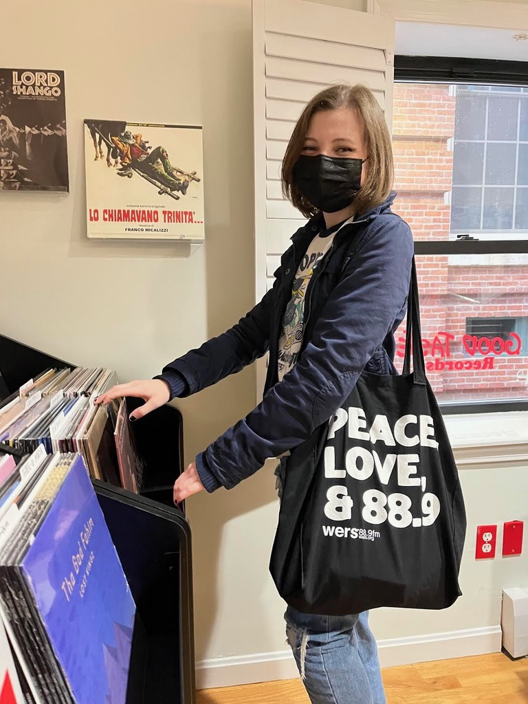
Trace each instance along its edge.
<instances>
[{"instance_id":1,"label":"brown shoulder-length hair of the masked woman","mask_svg":"<svg viewBox=\"0 0 528 704\"><path fill-rule=\"evenodd\" d=\"M382 108L370 89L363 85L334 85L314 96L291 134L282 160L282 193L306 218L319 211L296 188L293 179L294 165L303 151L310 120L315 113L336 108L355 110L363 120L368 171L365 183L354 198L356 213L366 213L379 206L389 196L394 179L394 162L389 130Z\"/></svg>"}]
</instances>

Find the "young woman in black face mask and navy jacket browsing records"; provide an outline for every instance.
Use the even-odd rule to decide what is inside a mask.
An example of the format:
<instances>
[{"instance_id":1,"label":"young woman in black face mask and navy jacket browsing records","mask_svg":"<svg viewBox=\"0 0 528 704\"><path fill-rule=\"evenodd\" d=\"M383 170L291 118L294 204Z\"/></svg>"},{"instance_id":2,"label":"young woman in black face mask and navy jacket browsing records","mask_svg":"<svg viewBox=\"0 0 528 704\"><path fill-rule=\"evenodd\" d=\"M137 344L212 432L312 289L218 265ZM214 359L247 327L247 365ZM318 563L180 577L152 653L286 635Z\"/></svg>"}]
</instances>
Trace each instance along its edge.
<instances>
[{"instance_id":1,"label":"young woman in black face mask and navy jacket browsing records","mask_svg":"<svg viewBox=\"0 0 528 704\"><path fill-rule=\"evenodd\" d=\"M309 218L292 237L262 301L220 337L150 381L99 397L143 398L136 420L269 352L263 401L196 457L174 486L176 503L231 489L266 458L314 435L363 371L396 373L394 332L406 313L413 237L391 211L391 140L375 96L333 86L306 106L282 163L284 194ZM313 704L383 704L377 647L360 615L286 612L288 640Z\"/></svg>"}]
</instances>

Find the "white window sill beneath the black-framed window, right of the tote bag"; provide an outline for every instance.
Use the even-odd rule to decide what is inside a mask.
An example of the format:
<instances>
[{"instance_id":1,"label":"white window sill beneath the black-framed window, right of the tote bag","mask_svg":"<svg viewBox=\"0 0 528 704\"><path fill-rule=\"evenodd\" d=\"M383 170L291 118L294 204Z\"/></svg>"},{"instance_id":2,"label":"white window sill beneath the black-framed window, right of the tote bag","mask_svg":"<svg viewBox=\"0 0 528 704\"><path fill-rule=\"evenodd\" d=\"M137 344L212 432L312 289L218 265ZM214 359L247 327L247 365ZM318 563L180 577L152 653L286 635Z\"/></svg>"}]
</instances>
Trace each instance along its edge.
<instances>
[{"instance_id":1,"label":"white window sill beneath the black-framed window, right of the tote bag","mask_svg":"<svg viewBox=\"0 0 528 704\"><path fill-rule=\"evenodd\" d=\"M528 466L528 412L446 415L460 469Z\"/></svg>"}]
</instances>

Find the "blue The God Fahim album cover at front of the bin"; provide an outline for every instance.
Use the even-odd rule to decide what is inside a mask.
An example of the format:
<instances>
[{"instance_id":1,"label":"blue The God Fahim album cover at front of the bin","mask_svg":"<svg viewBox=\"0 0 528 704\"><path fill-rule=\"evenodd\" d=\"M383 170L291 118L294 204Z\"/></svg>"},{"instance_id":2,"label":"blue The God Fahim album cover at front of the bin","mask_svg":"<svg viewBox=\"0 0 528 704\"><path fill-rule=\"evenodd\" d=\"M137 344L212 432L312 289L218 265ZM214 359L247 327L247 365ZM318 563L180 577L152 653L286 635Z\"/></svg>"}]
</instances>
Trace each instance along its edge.
<instances>
[{"instance_id":1,"label":"blue The God Fahim album cover at front of the bin","mask_svg":"<svg viewBox=\"0 0 528 704\"><path fill-rule=\"evenodd\" d=\"M21 568L77 704L125 704L135 605L81 457Z\"/></svg>"}]
</instances>

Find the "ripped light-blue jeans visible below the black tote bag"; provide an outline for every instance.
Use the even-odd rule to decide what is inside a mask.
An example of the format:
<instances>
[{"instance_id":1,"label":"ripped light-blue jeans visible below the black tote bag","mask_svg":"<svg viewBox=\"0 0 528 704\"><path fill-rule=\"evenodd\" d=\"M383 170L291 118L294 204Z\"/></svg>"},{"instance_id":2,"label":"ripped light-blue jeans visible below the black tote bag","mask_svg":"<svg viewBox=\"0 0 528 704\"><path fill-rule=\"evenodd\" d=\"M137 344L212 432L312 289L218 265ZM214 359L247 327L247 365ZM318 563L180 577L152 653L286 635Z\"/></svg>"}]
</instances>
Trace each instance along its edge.
<instances>
[{"instance_id":1,"label":"ripped light-blue jeans visible below the black tote bag","mask_svg":"<svg viewBox=\"0 0 528 704\"><path fill-rule=\"evenodd\" d=\"M368 612L350 616L284 615L288 643L312 704L385 704Z\"/></svg>"}]
</instances>

